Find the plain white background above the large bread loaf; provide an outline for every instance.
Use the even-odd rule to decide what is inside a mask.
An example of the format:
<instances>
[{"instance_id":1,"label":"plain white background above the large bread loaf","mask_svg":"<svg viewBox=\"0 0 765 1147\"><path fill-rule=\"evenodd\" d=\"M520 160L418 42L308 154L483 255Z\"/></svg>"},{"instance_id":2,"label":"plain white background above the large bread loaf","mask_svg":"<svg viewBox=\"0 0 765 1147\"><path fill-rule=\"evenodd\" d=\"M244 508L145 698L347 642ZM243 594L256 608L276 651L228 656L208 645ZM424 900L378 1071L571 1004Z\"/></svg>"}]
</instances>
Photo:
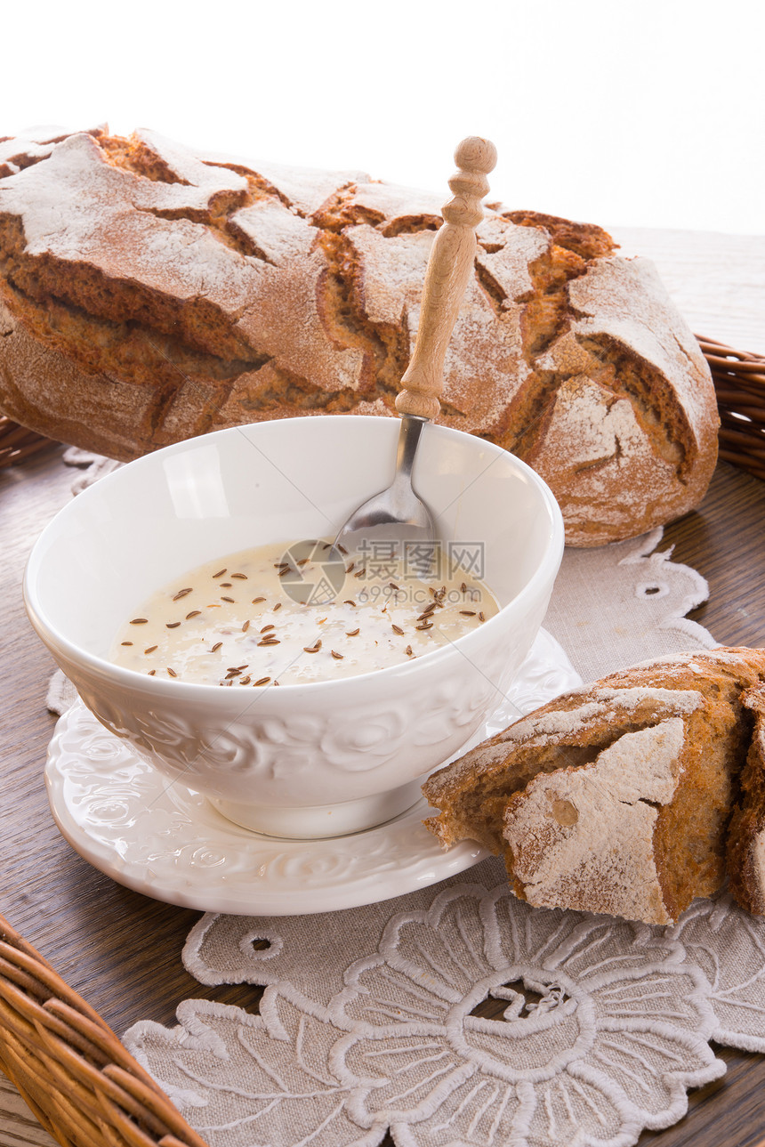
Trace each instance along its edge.
<instances>
[{"instance_id":1,"label":"plain white background above the large bread loaf","mask_svg":"<svg viewBox=\"0 0 765 1147\"><path fill-rule=\"evenodd\" d=\"M604 226L765 233L762 0L0 0L0 135L146 126L204 148Z\"/></svg>"}]
</instances>

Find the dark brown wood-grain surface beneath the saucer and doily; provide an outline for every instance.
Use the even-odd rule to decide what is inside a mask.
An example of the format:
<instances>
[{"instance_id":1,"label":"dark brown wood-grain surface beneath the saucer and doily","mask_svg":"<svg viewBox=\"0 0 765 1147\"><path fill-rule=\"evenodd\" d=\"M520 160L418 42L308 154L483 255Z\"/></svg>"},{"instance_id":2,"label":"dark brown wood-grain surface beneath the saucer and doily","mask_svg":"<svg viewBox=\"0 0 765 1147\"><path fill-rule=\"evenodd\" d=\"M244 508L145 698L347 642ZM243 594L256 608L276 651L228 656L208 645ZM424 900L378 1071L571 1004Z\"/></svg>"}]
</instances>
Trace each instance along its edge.
<instances>
[{"instance_id":1,"label":"dark brown wood-grain surface beneath the saucer and doily","mask_svg":"<svg viewBox=\"0 0 765 1147\"><path fill-rule=\"evenodd\" d=\"M762 290L762 283L757 290ZM763 312L765 313L765 311ZM693 322L693 319L692 319ZM702 330L728 337L719 329ZM742 350L762 350L754 337ZM21 580L29 551L71 497L76 471L57 448L0 470L0 912L117 1031L138 1020L172 1024L186 998L255 1008L258 989L205 988L180 960L200 913L148 899L92 868L58 835L42 770L55 718L45 696L54 670L26 619ZM710 600L690 616L726 645L765 646L765 484L720 465L700 509L666 528L659 546L698 570ZM689 1095L688 1115L657 1147L765 1147L765 1056L719 1048L727 1075ZM0 1086L0 1147L52 1140Z\"/></svg>"}]
</instances>

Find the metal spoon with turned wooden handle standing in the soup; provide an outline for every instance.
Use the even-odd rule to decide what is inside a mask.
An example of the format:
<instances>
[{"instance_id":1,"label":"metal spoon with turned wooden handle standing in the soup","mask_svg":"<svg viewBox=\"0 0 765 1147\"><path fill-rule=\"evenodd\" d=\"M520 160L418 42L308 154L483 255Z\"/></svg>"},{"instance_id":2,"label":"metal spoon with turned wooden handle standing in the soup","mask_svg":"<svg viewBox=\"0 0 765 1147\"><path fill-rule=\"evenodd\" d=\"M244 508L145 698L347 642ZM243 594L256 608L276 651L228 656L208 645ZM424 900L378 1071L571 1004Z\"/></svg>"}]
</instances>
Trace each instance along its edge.
<instances>
[{"instance_id":1,"label":"metal spoon with turned wooden handle standing in the soup","mask_svg":"<svg viewBox=\"0 0 765 1147\"><path fill-rule=\"evenodd\" d=\"M401 415L396 475L387 490L365 501L341 526L335 538L341 553L364 552L365 543L380 541L397 547L415 543L426 554L434 547L436 524L413 489L412 469L422 428L440 411L444 358L473 271L481 200L489 192L486 175L497 163L497 149L470 135L458 145L454 161L459 170L448 180L454 197L444 204L444 226L430 250L414 352L396 399Z\"/></svg>"}]
</instances>

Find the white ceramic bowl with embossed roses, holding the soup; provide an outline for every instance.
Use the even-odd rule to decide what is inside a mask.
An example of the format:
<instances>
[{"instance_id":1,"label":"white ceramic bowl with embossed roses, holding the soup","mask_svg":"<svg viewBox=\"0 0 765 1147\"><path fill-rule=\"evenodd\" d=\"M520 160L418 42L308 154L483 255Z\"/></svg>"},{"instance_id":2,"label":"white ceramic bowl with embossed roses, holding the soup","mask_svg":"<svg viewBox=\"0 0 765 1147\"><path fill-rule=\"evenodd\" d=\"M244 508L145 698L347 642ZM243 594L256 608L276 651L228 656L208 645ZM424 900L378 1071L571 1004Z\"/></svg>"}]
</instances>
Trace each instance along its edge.
<instances>
[{"instance_id":1,"label":"white ceramic bowl with embossed roses, holding the soup","mask_svg":"<svg viewBox=\"0 0 765 1147\"><path fill-rule=\"evenodd\" d=\"M334 537L392 478L398 420L290 419L220 430L131 462L79 494L30 556L32 625L99 720L169 780L281 836L380 824L497 708L539 630L563 552L545 483L481 438L428 426L414 479L443 539L483 541L502 607L453 646L358 677L221 689L107 657L155 590L249 546Z\"/></svg>"}]
</instances>

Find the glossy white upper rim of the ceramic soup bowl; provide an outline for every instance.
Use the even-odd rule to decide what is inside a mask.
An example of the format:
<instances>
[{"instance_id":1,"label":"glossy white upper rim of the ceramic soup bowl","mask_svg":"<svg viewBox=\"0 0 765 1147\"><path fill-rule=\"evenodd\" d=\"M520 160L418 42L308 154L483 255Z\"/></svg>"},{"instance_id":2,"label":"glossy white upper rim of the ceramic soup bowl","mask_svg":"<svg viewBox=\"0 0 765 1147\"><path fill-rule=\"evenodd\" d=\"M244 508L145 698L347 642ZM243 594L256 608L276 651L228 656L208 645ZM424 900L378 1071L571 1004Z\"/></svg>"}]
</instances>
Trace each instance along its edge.
<instances>
[{"instance_id":1,"label":"glossy white upper rim of the ceramic soup bowl","mask_svg":"<svg viewBox=\"0 0 765 1147\"><path fill-rule=\"evenodd\" d=\"M32 585L32 578L37 569L40 567L40 554L44 547L44 541L49 532L57 529L57 523L63 516L68 516L71 513L77 513L73 508L77 504L83 505L81 499L88 500L89 497L96 497L99 490L104 489L104 483L124 482L124 475L128 469L143 468L154 462L157 458L167 457L172 453L182 453L186 450L193 448L198 445L204 439L216 438L220 439L224 437L229 437L235 434L241 434L242 431L256 432L268 432L266 428L276 424L283 424L287 422L294 423L327 423L334 422L337 424L349 424L351 422L374 422L380 423L388 421L387 419L381 419L378 415L365 415L365 414L328 414L321 415L321 418L314 416L300 416L297 419L270 419L263 422L248 422L241 426L234 427L223 427L220 430L213 430L205 435L197 435L193 438L185 438L181 442L171 443L169 446L163 446L159 450L151 451L148 454L143 454L140 458L133 459L132 461L125 463L124 467L119 467L117 470L112 470L110 474L104 475L99 478L97 483L83 490L76 500L70 501L67 506L62 507L58 513L52 518L50 522L41 530L37 537L32 549L30 551L29 557L24 567L24 575L22 579L22 595L24 601L24 607L26 609L28 617L32 627L37 632L40 640L45 645L55 647L64 657L70 662L76 664L81 664L84 669L87 669L89 674L95 674L97 677L108 677L111 684L115 686L130 687L133 692L139 689L141 693L157 694L158 696L165 696L169 700L171 697L177 697L179 701L193 701L193 700L211 700L213 696L218 697L218 704L220 702L233 701L235 697L249 697L251 700L263 696L266 689L272 688L272 684L260 686L259 688L252 688L247 690L232 689L231 692L224 689L221 693L219 685L206 685L200 681L186 681L186 680L173 680L169 678L151 677L149 678L145 673L139 673L136 670L127 669L122 665L115 664L115 662L109 661L106 657L100 657L96 654L89 653L81 646L69 640L65 635L61 634L58 630L53 625L49 618L46 616L45 610L41 608L40 602L37 600L37 593ZM471 630L468 633L462 634L455 641L448 641L446 645L438 646L436 649L428 650L427 654L417 656L415 661L403 662L399 665L385 665L381 669L367 670L364 673L354 673L349 677L341 678L327 678L319 681L295 681L284 682L280 685L279 694L276 696L289 696L295 700L299 695L299 690L310 689L311 696L315 697L319 690L329 692L331 689L344 689L349 688L364 688L368 679L374 679L375 681L391 681L397 676L401 678L411 677L413 673L422 672L423 662L427 665L436 666L437 662L444 662L447 658L453 658L458 655L465 655L463 650L469 649L474 645L482 645L482 635L494 631L499 624L504 623L505 616L508 610L517 611L523 608L524 601L532 595L538 588L539 582L542 578L551 577L552 571L552 587L555 583L555 577L560 568L560 563L563 556L564 547L564 524L561 508L545 482L545 479L537 474L526 462L517 458L510 451L505 450L502 446L498 446L495 443L487 442L485 438L478 438L476 435L467 434L463 430L458 430L453 427L444 427L439 423L431 423L431 426L443 435L447 437L468 438L471 443L477 446L486 448L494 455L494 459L507 455L512 461L512 465L516 466L523 475L525 475L531 484L534 486L538 494L541 497L542 505L548 514L549 529L547 539L545 543L545 548L542 555L539 560L538 567L534 570L532 577L526 582L522 590L507 602L507 604L500 607L499 611L490 617L479 629ZM492 465L491 462L489 463ZM290 539L286 539L289 541ZM549 565L548 565L549 563ZM542 570L547 572L542 574ZM491 590L491 586L489 587ZM45 635L44 635L45 634ZM470 661L470 658L467 658ZM471 664L475 664L471 662ZM298 690L296 693L296 690Z\"/></svg>"}]
</instances>

